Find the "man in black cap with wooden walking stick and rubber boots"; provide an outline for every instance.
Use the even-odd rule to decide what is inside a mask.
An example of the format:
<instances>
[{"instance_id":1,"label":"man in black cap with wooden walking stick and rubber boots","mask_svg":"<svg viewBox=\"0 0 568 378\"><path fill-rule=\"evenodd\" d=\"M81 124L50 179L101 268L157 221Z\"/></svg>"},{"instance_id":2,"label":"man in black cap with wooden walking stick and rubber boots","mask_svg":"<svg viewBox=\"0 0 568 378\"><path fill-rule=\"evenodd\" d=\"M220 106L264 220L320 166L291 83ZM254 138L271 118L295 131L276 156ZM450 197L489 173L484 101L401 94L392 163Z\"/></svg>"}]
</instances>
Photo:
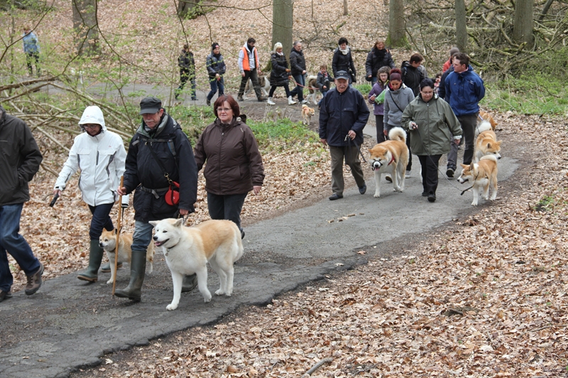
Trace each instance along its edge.
<instances>
[{"instance_id":1,"label":"man in black cap with wooden walking stick and rubber boots","mask_svg":"<svg viewBox=\"0 0 568 378\"><path fill-rule=\"evenodd\" d=\"M180 125L162 108L162 101L146 97L140 102L141 126L132 137L123 187L120 195L134 189L134 235L130 282L126 289L114 291L114 295L140 301L141 288L146 271L146 248L152 240L153 226L149 221L176 218L195 211L197 201L197 165L190 140ZM169 179L168 179L169 177ZM178 204L169 205L165 193L172 183L180 184ZM182 291L190 291L197 285L195 274L185 277Z\"/></svg>"}]
</instances>

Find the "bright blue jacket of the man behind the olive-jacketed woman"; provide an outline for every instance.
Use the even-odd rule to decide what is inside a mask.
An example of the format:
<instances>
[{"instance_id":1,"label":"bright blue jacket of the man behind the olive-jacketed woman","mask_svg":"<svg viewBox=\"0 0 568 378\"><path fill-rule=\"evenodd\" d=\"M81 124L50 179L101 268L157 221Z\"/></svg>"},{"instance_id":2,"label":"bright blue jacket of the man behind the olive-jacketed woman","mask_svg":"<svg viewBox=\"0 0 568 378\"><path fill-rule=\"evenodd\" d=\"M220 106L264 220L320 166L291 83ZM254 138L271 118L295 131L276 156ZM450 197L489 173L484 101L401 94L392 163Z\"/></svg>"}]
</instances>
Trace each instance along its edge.
<instances>
[{"instance_id":1,"label":"bright blue jacket of the man behind the olive-jacketed woman","mask_svg":"<svg viewBox=\"0 0 568 378\"><path fill-rule=\"evenodd\" d=\"M451 72L444 83L444 99L452 107L456 116L471 116L479 113L479 101L485 96L484 81L469 66L464 72Z\"/></svg>"}]
</instances>

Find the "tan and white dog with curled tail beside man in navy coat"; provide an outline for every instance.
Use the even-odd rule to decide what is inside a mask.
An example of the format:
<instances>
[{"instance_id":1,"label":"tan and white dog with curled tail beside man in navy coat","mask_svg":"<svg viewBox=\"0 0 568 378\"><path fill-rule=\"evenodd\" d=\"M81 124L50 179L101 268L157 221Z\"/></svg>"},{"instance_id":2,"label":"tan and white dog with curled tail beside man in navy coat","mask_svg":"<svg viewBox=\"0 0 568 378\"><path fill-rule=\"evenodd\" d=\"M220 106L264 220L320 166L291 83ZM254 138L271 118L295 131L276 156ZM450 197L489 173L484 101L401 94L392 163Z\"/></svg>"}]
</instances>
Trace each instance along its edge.
<instances>
[{"instance_id":1,"label":"tan and white dog with curled tail beside man in navy coat","mask_svg":"<svg viewBox=\"0 0 568 378\"><path fill-rule=\"evenodd\" d=\"M393 179L393 191L404 191L405 170L408 165L406 132L403 128L392 128L388 138L368 150L369 163L375 172L375 198L381 196L381 175L390 173Z\"/></svg>"}]
</instances>

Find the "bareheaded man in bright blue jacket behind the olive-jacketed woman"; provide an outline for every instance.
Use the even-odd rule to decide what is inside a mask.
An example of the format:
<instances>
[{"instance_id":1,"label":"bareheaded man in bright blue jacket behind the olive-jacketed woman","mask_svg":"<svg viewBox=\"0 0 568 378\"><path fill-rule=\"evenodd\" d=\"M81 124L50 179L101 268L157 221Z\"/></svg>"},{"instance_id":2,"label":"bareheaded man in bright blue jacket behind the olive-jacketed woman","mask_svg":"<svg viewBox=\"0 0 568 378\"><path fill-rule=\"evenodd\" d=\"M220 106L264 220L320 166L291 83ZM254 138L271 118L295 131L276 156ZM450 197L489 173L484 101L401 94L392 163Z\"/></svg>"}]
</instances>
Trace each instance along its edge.
<instances>
[{"instance_id":1,"label":"bareheaded man in bright blue jacket behind the olive-jacketed woman","mask_svg":"<svg viewBox=\"0 0 568 378\"><path fill-rule=\"evenodd\" d=\"M471 164L474 157L474 130L479 114L479 101L485 96L484 81L469 65L469 56L464 52L454 55L454 72L450 73L444 83L445 100L457 116L461 129L464 130L466 148L464 164ZM457 143L452 142L452 150L448 154L447 177L454 177L457 164Z\"/></svg>"}]
</instances>

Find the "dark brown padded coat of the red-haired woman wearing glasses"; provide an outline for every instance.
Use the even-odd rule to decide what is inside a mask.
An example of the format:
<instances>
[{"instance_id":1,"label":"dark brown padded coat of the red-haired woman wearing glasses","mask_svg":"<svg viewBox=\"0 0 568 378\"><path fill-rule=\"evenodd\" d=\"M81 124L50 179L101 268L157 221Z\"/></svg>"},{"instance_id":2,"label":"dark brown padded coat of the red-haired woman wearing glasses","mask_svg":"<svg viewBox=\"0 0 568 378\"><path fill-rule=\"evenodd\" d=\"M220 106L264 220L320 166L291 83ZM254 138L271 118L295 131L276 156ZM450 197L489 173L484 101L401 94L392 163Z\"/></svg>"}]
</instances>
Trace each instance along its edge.
<instances>
[{"instance_id":1,"label":"dark brown padded coat of the red-haired woman wearing glasses","mask_svg":"<svg viewBox=\"0 0 568 378\"><path fill-rule=\"evenodd\" d=\"M262 157L251 128L241 118L233 118L229 125L217 118L203 130L193 151L197 170L207 161L205 190L212 194L244 194L263 184Z\"/></svg>"}]
</instances>

